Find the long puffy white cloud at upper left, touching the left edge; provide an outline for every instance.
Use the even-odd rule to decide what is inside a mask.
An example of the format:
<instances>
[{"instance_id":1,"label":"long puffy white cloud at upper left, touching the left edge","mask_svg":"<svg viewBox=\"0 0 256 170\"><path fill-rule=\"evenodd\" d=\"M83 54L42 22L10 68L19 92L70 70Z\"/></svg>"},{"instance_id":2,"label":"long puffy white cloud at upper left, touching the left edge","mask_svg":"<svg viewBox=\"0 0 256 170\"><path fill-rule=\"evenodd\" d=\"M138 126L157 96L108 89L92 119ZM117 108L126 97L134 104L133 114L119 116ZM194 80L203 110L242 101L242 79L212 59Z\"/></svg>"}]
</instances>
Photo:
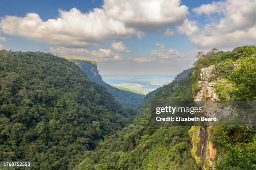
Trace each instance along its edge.
<instances>
[{"instance_id":1,"label":"long puffy white cloud at upper left, touching the left edge","mask_svg":"<svg viewBox=\"0 0 256 170\"><path fill-rule=\"evenodd\" d=\"M99 8L82 13L76 8L59 10L59 18L43 21L36 13L25 17L5 16L0 27L7 35L18 35L51 45L86 47L100 42L131 38L136 31L108 18Z\"/></svg>"}]
</instances>

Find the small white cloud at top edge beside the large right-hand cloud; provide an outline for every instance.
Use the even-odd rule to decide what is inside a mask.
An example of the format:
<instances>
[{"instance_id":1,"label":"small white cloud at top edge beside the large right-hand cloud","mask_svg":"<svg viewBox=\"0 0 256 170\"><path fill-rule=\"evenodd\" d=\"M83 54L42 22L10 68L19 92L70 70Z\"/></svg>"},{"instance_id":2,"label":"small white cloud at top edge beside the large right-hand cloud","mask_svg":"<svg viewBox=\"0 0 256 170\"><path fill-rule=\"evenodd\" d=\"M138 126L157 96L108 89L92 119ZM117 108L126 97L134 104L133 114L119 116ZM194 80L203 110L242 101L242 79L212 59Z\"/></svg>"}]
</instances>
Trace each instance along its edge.
<instances>
[{"instance_id":1,"label":"small white cloud at top edge beside the large right-hand cloud","mask_svg":"<svg viewBox=\"0 0 256 170\"><path fill-rule=\"evenodd\" d=\"M223 6L224 6L224 2L219 1L219 2L215 2L213 1L211 4L203 4L200 7L195 7L192 9L192 11L194 13L197 13L198 15L211 15L213 13L221 13L223 12Z\"/></svg>"}]
</instances>

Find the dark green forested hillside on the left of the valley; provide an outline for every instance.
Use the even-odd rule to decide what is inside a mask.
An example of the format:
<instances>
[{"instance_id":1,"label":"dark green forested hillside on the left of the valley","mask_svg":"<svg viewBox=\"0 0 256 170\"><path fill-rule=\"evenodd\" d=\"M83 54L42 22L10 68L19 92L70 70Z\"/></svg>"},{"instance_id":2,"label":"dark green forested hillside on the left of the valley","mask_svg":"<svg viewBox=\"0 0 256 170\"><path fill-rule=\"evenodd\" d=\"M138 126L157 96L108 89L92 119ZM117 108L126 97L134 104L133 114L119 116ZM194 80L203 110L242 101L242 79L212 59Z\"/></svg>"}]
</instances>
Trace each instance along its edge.
<instances>
[{"instance_id":1,"label":"dark green forested hillside on the left of the valley","mask_svg":"<svg viewBox=\"0 0 256 170\"><path fill-rule=\"evenodd\" d=\"M0 51L0 160L72 169L129 113L64 58Z\"/></svg>"}]
</instances>

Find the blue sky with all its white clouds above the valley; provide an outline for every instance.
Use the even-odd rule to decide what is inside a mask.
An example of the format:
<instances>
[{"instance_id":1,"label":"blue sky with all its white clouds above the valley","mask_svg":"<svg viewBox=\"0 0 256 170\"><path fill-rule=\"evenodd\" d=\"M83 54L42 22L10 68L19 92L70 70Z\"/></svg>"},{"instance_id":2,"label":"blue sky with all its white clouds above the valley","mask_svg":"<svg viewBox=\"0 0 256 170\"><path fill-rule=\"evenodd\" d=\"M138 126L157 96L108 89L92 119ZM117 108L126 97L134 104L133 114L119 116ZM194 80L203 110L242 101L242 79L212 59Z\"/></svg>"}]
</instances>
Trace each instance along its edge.
<instances>
[{"instance_id":1,"label":"blue sky with all its white clouds above the valley","mask_svg":"<svg viewBox=\"0 0 256 170\"><path fill-rule=\"evenodd\" d=\"M198 51L256 43L256 0L1 0L0 50L97 62L101 75L175 75Z\"/></svg>"}]
</instances>

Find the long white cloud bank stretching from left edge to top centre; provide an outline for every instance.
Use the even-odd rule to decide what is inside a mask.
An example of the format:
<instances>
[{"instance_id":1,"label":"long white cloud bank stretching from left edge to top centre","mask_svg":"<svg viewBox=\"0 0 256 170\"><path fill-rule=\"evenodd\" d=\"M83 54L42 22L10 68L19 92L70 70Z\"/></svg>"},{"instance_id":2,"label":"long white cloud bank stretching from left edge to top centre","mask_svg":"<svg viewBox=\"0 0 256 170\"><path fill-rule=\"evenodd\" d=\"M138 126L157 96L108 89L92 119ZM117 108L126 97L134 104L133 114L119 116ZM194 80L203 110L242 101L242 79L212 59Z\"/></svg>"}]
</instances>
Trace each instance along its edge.
<instances>
[{"instance_id":1,"label":"long white cloud bank stretching from left edge to top centre","mask_svg":"<svg viewBox=\"0 0 256 170\"><path fill-rule=\"evenodd\" d=\"M0 30L51 45L88 47L133 36L142 39L145 31L182 23L187 13L180 0L104 0L101 8L88 13L77 8L59 10L58 18L46 21L36 13L8 15L1 19Z\"/></svg>"}]
</instances>

